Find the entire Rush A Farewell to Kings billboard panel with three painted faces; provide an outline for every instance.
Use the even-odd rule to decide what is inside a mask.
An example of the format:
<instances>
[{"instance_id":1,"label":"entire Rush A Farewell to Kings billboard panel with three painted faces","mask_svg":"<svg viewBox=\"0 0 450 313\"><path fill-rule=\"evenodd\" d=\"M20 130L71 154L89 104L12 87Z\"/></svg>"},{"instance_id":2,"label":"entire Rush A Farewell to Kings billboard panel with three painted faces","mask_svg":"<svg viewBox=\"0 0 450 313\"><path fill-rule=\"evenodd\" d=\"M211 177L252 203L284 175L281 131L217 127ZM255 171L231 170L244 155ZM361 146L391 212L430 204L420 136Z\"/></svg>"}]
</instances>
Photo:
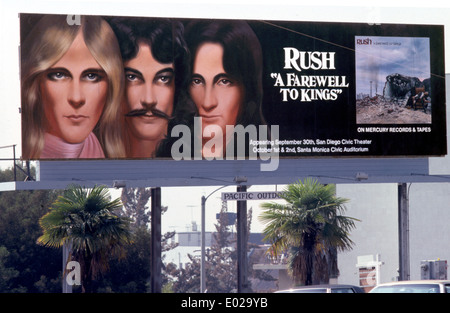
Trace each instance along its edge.
<instances>
[{"instance_id":1,"label":"entire Rush A Farewell to Kings billboard panel with three painted faces","mask_svg":"<svg viewBox=\"0 0 450 313\"><path fill-rule=\"evenodd\" d=\"M20 23L26 160L447 154L443 26Z\"/></svg>"}]
</instances>

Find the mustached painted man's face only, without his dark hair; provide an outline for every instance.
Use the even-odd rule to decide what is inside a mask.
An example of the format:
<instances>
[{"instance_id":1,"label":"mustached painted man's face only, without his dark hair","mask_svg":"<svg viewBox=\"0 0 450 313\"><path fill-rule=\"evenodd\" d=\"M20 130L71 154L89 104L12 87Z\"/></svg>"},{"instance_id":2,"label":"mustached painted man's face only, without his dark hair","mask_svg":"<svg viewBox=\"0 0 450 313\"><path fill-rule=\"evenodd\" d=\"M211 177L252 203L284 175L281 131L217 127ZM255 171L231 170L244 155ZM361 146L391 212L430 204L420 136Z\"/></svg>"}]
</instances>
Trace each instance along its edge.
<instances>
[{"instance_id":1,"label":"mustached painted man's face only, without his dark hair","mask_svg":"<svg viewBox=\"0 0 450 313\"><path fill-rule=\"evenodd\" d=\"M173 112L174 66L158 62L146 44L140 44L136 57L124 66L131 140L158 142L167 135Z\"/></svg>"}]
</instances>

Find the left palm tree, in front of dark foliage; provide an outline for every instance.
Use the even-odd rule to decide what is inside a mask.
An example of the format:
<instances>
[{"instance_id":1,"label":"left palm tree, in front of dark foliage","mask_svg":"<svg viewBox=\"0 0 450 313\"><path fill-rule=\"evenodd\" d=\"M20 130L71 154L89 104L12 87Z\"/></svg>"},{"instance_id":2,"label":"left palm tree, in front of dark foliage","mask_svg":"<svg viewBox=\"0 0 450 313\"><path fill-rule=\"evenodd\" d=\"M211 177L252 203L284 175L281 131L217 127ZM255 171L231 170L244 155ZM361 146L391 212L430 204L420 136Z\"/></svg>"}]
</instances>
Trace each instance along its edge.
<instances>
[{"instance_id":1,"label":"left palm tree, in front of dark foliage","mask_svg":"<svg viewBox=\"0 0 450 313\"><path fill-rule=\"evenodd\" d=\"M108 270L111 256L123 256L132 242L130 220L119 217L120 199L112 200L107 187L84 189L71 186L39 220L43 235L38 243L59 248L71 243L71 258L80 263L83 292L92 292L92 282Z\"/></svg>"}]
</instances>

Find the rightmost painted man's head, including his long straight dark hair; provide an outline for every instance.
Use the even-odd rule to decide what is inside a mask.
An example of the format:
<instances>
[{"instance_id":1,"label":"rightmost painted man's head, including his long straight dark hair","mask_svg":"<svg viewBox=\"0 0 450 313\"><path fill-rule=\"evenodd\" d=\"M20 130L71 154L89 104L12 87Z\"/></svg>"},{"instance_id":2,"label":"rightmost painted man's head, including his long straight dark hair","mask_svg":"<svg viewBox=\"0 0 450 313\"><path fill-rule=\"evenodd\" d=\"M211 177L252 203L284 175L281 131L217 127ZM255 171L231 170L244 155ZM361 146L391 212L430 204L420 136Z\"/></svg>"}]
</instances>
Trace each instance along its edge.
<instances>
[{"instance_id":1,"label":"rightmost painted man's head, including his long straight dark hair","mask_svg":"<svg viewBox=\"0 0 450 313\"><path fill-rule=\"evenodd\" d=\"M261 46L244 21L193 21L185 38L191 53L189 94L202 119L202 155L223 156L227 125L265 124ZM222 132L223 140L215 142L215 149L205 149L214 131Z\"/></svg>"}]
</instances>

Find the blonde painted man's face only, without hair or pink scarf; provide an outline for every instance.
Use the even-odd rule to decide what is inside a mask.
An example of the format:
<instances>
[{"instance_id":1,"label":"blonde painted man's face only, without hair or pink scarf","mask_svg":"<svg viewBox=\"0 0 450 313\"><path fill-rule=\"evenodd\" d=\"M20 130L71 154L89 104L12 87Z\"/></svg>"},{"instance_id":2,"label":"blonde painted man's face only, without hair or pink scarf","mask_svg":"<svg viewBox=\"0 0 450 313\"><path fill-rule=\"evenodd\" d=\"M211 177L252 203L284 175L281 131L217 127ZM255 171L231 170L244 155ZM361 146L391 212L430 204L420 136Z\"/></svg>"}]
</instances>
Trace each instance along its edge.
<instances>
[{"instance_id":1,"label":"blonde painted man's face only, without hair or pink scarf","mask_svg":"<svg viewBox=\"0 0 450 313\"><path fill-rule=\"evenodd\" d=\"M108 82L82 32L63 57L46 71L40 90L46 132L71 144L85 140L103 112Z\"/></svg>"}]
</instances>

